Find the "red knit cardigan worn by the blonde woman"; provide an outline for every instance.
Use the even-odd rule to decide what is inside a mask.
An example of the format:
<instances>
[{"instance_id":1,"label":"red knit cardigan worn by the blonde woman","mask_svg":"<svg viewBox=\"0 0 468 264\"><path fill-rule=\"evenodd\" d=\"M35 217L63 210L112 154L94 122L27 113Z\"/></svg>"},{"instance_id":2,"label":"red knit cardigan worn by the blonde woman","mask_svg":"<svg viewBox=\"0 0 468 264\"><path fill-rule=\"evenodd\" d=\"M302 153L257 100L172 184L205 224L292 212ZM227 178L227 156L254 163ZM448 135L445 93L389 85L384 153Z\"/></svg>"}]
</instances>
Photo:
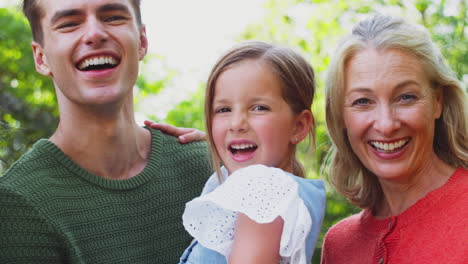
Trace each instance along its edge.
<instances>
[{"instance_id":1,"label":"red knit cardigan worn by the blonde woman","mask_svg":"<svg viewBox=\"0 0 468 264\"><path fill-rule=\"evenodd\" d=\"M322 263L468 263L468 170L396 217L364 210L340 221L325 236Z\"/></svg>"}]
</instances>

